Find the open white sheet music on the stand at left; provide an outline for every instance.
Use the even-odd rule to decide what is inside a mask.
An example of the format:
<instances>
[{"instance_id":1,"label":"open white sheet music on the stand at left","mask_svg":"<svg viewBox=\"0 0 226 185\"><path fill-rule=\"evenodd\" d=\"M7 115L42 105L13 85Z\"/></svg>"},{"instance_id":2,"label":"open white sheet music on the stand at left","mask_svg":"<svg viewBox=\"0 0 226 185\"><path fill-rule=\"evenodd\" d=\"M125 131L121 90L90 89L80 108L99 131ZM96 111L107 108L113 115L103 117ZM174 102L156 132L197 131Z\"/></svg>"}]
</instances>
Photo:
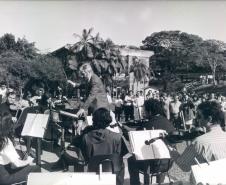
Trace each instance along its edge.
<instances>
[{"instance_id":1,"label":"open white sheet music on the stand at left","mask_svg":"<svg viewBox=\"0 0 226 185\"><path fill-rule=\"evenodd\" d=\"M28 113L21 135L43 138L48 120L49 114Z\"/></svg>"}]
</instances>

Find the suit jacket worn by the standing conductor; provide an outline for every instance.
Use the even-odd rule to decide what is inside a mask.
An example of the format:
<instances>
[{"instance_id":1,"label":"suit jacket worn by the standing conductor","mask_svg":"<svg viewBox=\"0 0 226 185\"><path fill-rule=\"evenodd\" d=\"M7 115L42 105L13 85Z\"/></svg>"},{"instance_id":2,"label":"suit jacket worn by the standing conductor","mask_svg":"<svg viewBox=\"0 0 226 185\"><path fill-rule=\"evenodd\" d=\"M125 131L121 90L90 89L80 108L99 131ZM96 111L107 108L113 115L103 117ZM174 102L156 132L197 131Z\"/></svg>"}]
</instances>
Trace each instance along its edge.
<instances>
[{"instance_id":1,"label":"suit jacket worn by the standing conductor","mask_svg":"<svg viewBox=\"0 0 226 185\"><path fill-rule=\"evenodd\" d=\"M82 106L83 109L88 110L88 108L90 108L91 113L100 107L109 109L109 103L104 85L96 74L93 74L88 82L87 91L88 98Z\"/></svg>"}]
</instances>

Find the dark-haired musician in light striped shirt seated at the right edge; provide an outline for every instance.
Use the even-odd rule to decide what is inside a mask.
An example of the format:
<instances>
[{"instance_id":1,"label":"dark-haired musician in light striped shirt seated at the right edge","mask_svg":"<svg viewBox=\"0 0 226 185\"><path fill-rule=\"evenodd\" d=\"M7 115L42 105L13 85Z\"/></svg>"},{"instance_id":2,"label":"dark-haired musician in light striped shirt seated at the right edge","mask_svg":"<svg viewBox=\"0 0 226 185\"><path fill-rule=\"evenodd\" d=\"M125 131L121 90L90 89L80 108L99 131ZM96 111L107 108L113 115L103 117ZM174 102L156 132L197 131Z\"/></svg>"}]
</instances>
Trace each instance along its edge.
<instances>
[{"instance_id":1,"label":"dark-haired musician in light striped shirt seated at the right edge","mask_svg":"<svg viewBox=\"0 0 226 185\"><path fill-rule=\"evenodd\" d=\"M195 138L181 155L175 153L174 156L177 165L186 172L196 164L195 157L200 163L226 158L226 133L221 127L224 126L224 115L220 104L216 101L199 104L196 119L206 133Z\"/></svg>"}]
</instances>

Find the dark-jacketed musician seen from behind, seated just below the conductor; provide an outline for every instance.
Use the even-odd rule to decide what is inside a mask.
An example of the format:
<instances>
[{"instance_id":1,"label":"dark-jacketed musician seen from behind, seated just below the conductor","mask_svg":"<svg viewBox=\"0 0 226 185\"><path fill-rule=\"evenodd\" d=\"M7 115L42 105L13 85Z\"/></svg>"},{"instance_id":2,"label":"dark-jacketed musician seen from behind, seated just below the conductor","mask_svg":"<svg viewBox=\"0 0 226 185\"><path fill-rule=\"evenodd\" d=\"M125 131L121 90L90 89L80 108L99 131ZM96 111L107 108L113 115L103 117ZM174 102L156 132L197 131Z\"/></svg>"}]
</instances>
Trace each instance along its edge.
<instances>
[{"instance_id":1,"label":"dark-jacketed musician seen from behind, seated just below the conductor","mask_svg":"<svg viewBox=\"0 0 226 185\"><path fill-rule=\"evenodd\" d=\"M74 139L73 144L81 150L82 157L89 161L91 157L96 155L121 155L121 134L115 133L106 127L112 122L110 111L106 108L99 108L93 114L93 126L87 127L83 134ZM79 156L79 153L77 154ZM62 168L72 163L72 157L66 152L61 156L60 160L52 167L53 170ZM77 159L78 160L78 159ZM74 159L74 162L76 160ZM117 185L123 185L124 166L119 174L117 174Z\"/></svg>"}]
</instances>

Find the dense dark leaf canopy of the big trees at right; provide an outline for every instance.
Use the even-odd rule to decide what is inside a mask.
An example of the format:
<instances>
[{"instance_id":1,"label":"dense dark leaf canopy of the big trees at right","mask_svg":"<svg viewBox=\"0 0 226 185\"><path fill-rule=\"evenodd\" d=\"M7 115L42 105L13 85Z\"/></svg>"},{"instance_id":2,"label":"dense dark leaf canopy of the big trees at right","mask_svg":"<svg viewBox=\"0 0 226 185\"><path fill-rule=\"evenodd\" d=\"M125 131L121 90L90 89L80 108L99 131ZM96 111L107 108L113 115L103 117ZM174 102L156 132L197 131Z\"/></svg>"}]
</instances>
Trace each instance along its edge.
<instances>
[{"instance_id":1,"label":"dense dark leaf canopy of the big trees at right","mask_svg":"<svg viewBox=\"0 0 226 185\"><path fill-rule=\"evenodd\" d=\"M225 43L216 40L205 41L197 35L185 32L153 33L145 38L141 48L155 52L152 61L161 69L163 79L168 81L176 73L197 70L212 72L215 79L217 67L225 68Z\"/></svg>"}]
</instances>

